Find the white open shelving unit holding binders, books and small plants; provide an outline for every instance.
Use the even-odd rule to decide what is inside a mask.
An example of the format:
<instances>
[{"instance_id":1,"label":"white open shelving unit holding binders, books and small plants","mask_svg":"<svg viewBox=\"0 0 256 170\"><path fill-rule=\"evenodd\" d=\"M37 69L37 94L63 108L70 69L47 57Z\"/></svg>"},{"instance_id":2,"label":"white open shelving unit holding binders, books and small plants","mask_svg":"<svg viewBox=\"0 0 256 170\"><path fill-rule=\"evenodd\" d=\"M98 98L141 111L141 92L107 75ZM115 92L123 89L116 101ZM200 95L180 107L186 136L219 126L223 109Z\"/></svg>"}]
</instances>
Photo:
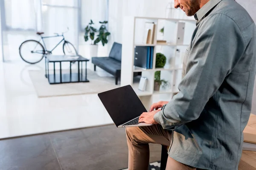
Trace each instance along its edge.
<instances>
[{"instance_id":1,"label":"white open shelving unit holding binders, books and small plants","mask_svg":"<svg viewBox=\"0 0 256 170\"><path fill-rule=\"evenodd\" d=\"M143 44L145 35L145 23L155 23L154 43ZM178 84L181 81L183 55L190 44L190 40L195 29L195 20L178 20L166 18L151 17L125 17L123 21L122 32L122 65L121 65L121 86L131 85L136 94L140 97L146 109L149 109L154 98L161 99L178 93ZM177 37L180 35L178 24L185 23L183 29L183 43L177 43ZM164 34L161 36L160 29L164 27ZM157 44L157 40L166 40L166 44ZM153 46L153 68L145 69L134 66L134 48L136 46ZM166 65L164 68L155 68L156 54L160 52L166 56ZM154 73L161 71L161 79L169 82L169 87L160 88L160 91L154 91ZM142 72L142 77L148 79L146 90L138 90L139 82L134 82L134 72Z\"/></svg>"}]
</instances>

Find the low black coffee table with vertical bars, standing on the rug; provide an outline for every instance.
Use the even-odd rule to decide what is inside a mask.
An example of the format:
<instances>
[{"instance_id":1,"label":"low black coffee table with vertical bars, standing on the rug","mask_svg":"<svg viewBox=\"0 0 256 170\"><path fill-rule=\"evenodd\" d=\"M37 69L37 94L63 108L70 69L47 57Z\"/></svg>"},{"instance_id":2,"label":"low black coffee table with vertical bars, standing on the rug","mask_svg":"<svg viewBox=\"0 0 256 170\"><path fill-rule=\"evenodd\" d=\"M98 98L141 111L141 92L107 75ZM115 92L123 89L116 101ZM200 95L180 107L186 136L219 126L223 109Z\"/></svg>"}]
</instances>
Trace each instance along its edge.
<instances>
[{"instance_id":1,"label":"low black coffee table with vertical bars, standing on the rug","mask_svg":"<svg viewBox=\"0 0 256 170\"><path fill-rule=\"evenodd\" d=\"M45 77L48 78L49 84L61 84L70 82L89 82L87 79L87 61L81 55L78 56L67 56L67 55L45 55ZM55 63L58 62L60 65L59 73L55 72ZM69 73L61 70L61 62L70 62ZM77 73L72 73L71 65L72 62L77 62L78 70ZM80 65L81 62L81 65ZM85 62L85 71L83 73L83 63ZM53 63L53 74L49 74L49 63ZM80 68L81 66L81 68Z\"/></svg>"}]
</instances>

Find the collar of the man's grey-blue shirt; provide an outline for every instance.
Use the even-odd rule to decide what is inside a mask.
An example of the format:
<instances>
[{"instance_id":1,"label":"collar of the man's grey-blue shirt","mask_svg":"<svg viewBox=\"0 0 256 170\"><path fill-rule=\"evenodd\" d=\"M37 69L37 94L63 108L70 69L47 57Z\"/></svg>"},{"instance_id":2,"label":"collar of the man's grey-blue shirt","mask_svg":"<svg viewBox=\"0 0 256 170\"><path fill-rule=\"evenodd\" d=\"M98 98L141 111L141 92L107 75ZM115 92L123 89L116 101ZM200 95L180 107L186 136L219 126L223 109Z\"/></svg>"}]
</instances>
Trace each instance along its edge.
<instances>
[{"instance_id":1,"label":"collar of the man's grey-blue shirt","mask_svg":"<svg viewBox=\"0 0 256 170\"><path fill-rule=\"evenodd\" d=\"M195 20L200 21L212 8L214 8L222 0L209 0L201 9L199 9L194 17Z\"/></svg>"}]
</instances>

